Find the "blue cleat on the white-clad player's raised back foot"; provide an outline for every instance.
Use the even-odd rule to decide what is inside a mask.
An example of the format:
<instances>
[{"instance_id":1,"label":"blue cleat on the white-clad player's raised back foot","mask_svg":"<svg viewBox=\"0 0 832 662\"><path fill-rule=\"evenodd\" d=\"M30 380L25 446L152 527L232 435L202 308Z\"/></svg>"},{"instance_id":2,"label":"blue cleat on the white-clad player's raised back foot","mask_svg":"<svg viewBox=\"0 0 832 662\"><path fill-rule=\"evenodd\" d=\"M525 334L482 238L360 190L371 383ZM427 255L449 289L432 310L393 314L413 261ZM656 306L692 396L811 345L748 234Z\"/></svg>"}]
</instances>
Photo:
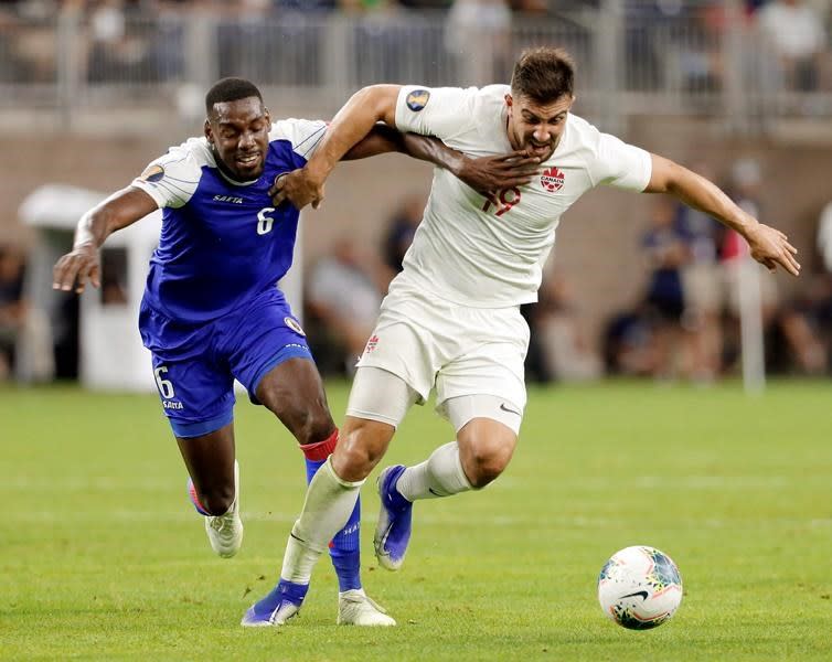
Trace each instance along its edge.
<instances>
[{"instance_id":1,"label":"blue cleat on the white-clad player's raised back foot","mask_svg":"<svg viewBox=\"0 0 832 662\"><path fill-rule=\"evenodd\" d=\"M410 542L413 503L396 490L396 482L405 467L394 465L378 474L378 498L382 509L375 526L373 546L378 565L388 570L402 567Z\"/></svg>"}]
</instances>

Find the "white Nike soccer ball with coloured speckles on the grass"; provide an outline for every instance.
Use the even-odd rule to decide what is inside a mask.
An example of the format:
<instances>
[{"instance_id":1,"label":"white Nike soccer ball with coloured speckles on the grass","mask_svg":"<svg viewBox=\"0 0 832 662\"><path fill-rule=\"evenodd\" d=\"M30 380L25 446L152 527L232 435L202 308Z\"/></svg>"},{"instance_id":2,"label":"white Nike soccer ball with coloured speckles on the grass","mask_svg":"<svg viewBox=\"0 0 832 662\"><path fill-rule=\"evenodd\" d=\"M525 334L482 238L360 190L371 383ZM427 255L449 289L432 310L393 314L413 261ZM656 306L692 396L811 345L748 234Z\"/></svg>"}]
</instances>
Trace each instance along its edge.
<instances>
[{"instance_id":1,"label":"white Nike soccer ball with coloured speckles on the grass","mask_svg":"<svg viewBox=\"0 0 832 662\"><path fill-rule=\"evenodd\" d=\"M598 601L619 626L658 628L682 602L682 576L659 549L643 545L616 552L598 576Z\"/></svg>"}]
</instances>

